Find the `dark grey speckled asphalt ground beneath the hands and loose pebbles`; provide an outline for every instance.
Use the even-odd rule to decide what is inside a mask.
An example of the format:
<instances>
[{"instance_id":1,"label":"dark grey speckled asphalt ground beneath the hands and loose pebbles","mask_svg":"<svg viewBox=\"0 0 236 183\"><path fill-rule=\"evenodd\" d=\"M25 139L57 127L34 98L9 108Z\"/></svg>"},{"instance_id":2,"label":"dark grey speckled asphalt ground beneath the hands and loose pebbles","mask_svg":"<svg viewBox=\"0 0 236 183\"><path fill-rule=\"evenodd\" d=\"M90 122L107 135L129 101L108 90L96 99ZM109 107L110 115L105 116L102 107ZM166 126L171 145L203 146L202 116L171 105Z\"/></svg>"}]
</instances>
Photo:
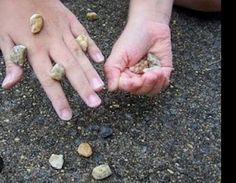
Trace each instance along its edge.
<instances>
[{"instance_id":1,"label":"dark grey speckled asphalt ground beneath the hands and loose pebbles","mask_svg":"<svg viewBox=\"0 0 236 183\"><path fill-rule=\"evenodd\" d=\"M125 26L128 1L64 2L108 56ZM99 20L86 20L89 9ZM220 182L220 16L175 8L171 29L175 70L165 92L148 98L105 90L103 104L89 109L65 82L74 111L69 122L57 117L26 65L20 84L0 89L0 183L96 182L92 169L103 163L113 172L101 181L107 183ZM102 65L96 68L103 76ZM111 136L102 137L104 127ZM81 142L92 145L92 157L77 154ZM62 170L50 167L52 153L64 155Z\"/></svg>"}]
</instances>

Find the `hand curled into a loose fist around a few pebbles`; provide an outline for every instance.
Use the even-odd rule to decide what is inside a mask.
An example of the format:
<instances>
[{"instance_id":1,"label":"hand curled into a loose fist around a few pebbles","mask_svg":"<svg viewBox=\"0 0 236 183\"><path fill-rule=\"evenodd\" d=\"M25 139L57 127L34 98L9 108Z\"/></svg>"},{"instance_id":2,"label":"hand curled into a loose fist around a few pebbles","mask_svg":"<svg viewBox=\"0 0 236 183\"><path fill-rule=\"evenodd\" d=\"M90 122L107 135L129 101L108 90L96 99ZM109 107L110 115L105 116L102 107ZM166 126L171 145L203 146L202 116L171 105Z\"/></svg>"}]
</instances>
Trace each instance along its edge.
<instances>
[{"instance_id":1,"label":"hand curled into a loose fist around a few pebbles","mask_svg":"<svg viewBox=\"0 0 236 183\"><path fill-rule=\"evenodd\" d=\"M162 67L143 75L130 72L129 66L136 64L148 52L160 59ZM151 21L128 23L105 64L110 90L145 95L157 94L167 87L172 70L169 26Z\"/></svg>"}]
</instances>

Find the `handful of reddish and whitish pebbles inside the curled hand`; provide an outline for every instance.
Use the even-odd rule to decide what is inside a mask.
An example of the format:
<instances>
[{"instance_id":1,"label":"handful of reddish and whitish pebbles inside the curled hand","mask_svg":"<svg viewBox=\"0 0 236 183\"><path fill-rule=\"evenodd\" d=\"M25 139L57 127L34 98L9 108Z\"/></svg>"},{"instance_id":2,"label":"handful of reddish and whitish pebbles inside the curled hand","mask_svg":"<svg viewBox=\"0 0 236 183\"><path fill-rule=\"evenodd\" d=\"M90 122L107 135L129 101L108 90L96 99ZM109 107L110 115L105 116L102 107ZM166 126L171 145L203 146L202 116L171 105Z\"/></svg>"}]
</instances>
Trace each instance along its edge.
<instances>
[{"instance_id":1,"label":"handful of reddish and whitish pebbles inside the curled hand","mask_svg":"<svg viewBox=\"0 0 236 183\"><path fill-rule=\"evenodd\" d=\"M137 64L129 67L129 70L136 74L143 74L145 72L153 71L161 67L159 58L152 54L148 53L145 59L142 59Z\"/></svg>"}]
</instances>

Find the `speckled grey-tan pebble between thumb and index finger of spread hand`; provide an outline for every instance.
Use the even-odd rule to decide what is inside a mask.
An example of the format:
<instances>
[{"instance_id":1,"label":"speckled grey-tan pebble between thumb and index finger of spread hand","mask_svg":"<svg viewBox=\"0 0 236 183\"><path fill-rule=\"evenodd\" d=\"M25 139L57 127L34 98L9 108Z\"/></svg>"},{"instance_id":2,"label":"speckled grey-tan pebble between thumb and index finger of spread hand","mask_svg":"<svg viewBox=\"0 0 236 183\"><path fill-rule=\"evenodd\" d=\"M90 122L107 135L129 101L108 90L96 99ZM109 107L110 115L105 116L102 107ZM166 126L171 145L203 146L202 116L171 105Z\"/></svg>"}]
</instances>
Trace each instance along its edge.
<instances>
[{"instance_id":1,"label":"speckled grey-tan pebble between thumb and index finger of spread hand","mask_svg":"<svg viewBox=\"0 0 236 183\"><path fill-rule=\"evenodd\" d=\"M10 51L10 60L17 65L23 66L26 61L27 48L23 45L14 46Z\"/></svg>"}]
</instances>

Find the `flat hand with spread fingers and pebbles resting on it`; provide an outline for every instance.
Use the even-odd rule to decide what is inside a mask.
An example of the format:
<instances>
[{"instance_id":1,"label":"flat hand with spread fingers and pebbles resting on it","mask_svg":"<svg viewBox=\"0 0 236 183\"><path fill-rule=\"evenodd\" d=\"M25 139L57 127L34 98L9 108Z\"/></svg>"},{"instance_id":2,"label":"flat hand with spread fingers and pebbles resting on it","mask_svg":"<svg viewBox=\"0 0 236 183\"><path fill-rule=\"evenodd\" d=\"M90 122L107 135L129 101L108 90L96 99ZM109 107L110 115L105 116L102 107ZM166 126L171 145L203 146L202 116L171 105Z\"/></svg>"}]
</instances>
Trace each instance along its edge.
<instances>
[{"instance_id":1,"label":"flat hand with spread fingers and pebbles resting on it","mask_svg":"<svg viewBox=\"0 0 236 183\"><path fill-rule=\"evenodd\" d=\"M33 35L29 19L35 13L43 16L44 27ZM59 0L1 0L0 25L0 48L6 61L3 88L13 87L22 77L22 68L9 60L12 47L22 44L27 47L28 61L61 119L69 120L72 111L60 83L49 76L52 61L64 66L67 79L88 106L100 105L96 91L102 89L103 81L75 41L78 35L87 32ZM96 62L104 60L91 38L88 54Z\"/></svg>"}]
</instances>

